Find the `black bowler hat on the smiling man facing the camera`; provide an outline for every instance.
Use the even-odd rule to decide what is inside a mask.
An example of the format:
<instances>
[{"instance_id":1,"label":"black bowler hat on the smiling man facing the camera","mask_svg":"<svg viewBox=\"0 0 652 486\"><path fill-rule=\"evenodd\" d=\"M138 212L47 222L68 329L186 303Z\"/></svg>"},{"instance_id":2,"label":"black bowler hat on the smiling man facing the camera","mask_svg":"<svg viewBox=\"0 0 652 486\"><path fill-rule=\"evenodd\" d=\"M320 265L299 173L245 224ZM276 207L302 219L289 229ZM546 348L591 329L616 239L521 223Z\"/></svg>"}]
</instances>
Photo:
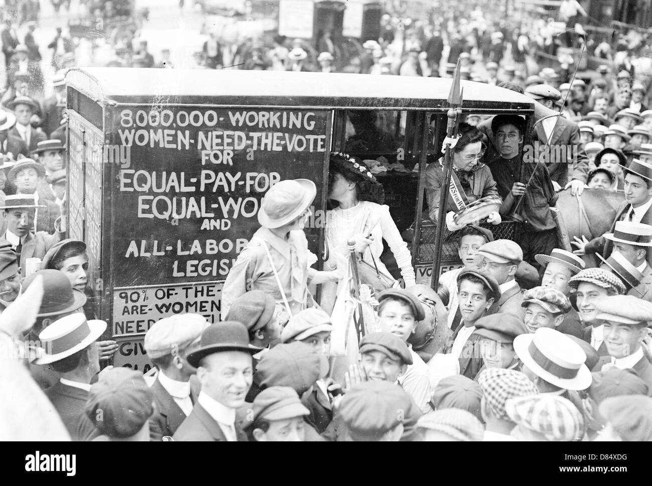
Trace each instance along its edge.
<instances>
[{"instance_id":1,"label":"black bowler hat on the smiling man facing the camera","mask_svg":"<svg viewBox=\"0 0 652 486\"><path fill-rule=\"evenodd\" d=\"M237 321L224 321L204 329L201 333L200 348L188 354L186 359L197 368L203 357L222 351L256 354L260 348L249 344L249 334L244 324Z\"/></svg>"}]
</instances>

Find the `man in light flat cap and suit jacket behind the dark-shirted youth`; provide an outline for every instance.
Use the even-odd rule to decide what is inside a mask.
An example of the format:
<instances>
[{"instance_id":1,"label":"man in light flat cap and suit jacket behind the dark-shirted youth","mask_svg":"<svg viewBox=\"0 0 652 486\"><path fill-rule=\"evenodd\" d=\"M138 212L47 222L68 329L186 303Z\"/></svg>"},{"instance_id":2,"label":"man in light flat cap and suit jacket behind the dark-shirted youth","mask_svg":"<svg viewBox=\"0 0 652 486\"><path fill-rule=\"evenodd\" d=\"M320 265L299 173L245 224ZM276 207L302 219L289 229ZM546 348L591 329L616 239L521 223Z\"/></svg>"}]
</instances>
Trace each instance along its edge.
<instances>
[{"instance_id":1,"label":"man in light flat cap and suit jacket behind the dark-shirted youth","mask_svg":"<svg viewBox=\"0 0 652 486\"><path fill-rule=\"evenodd\" d=\"M525 94L539 100L546 108L554 110L555 103L561 99L561 93L552 86L539 84L526 89ZM550 144L548 144L550 139ZM561 115L542 119L535 127L533 141L538 141L541 150L548 144L546 168L556 190L564 189L571 180L586 183L589 160L584 146L580 143L580 129L574 121ZM569 172L569 166L572 172Z\"/></svg>"}]
</instances>

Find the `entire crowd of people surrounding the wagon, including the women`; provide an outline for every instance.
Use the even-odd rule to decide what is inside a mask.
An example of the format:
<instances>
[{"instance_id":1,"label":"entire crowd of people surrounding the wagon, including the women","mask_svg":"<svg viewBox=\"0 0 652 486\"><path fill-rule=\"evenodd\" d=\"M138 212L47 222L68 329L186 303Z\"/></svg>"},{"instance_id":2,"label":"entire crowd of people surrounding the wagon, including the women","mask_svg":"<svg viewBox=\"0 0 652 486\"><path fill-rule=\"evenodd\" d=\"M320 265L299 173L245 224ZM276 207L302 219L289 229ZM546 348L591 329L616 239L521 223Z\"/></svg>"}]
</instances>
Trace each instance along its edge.
<instances>
[{"instance_id":1,"label":"entire crowd of people surrounding the wagon, including the women","mask_svg":"<svg viewBox=\"0 0 652 486\"><path fill-rule=\"evenodd\" d=\"M516 115L469 117L449 140L457 190L467 202L492 199L496 210L489 224L459 224L449 198L439 223L456 241L462 267L443 273L436 289L417 284L408 243L378 197L381 183L368 161L331 153L323 269L304 234L315 182L276 183L224 282L220 322L176 314L153 324L143 347L154 368L145 375L108 365L117 343L103 338L107 323L96 319L86 245L65 237L64 74L74 43L59 32L47 64L42 48L18 39L8 20L0 389L16 399L0 402L0 438L652 441L649 48L642 40L625 56L605 53L588 82L571 71L530 72L533 42L561 42L532 37L546 22L519 31L488 25L480 9L465 15L454 17L455 28L406 29L383 18L381 37L364 42L341 69L342 52L328 32L315 48L276 37L269 50L239 50L210 36L198 56L208 68L305 71L316 62L325 73L439 76L452 74L459 59L462 77L535 100L536 125L526 134ZM565 40L589 46L583 37ZM147 42L138 45L112 65L155 66ZM312 61L308 51L317 53ZM172 67L169 54L159 67ZM526 160L526 137L574 150L565 160L525 163L537 162ZM434 222L442 163L426 169ZM625 200L606 233L560 247L555 213L565 209L558 203L565 189L574 196L602 189ZM518 241L495 238L491 228L514 207L524 221ZM351 241L379 277L354 279L361 285L353 315L340 299L342 282L351 285ZM383 241L404 288L381 262Z\"/></svg>"}]
</instances>

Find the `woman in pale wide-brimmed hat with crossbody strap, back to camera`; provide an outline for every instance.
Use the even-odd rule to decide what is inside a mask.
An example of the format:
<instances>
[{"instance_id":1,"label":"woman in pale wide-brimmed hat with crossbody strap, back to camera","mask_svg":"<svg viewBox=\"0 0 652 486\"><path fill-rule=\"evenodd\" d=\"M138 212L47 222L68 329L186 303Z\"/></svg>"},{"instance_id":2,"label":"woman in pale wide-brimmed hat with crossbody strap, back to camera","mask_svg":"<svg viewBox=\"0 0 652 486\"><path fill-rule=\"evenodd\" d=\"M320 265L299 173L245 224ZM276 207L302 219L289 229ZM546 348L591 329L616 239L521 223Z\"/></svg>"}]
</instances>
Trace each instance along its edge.
<instances>
[{"instance_id":1,"label":"woman in pale wide-brimmed hat with crossbody strap, back to camera","mask_svg":"<svg viewBox=\"0 0 652 486\"><path fill-rule=\"evenodd\" d=\"M308 250L303 229L317 194L308 179L280 181L261 201L254 234L222 287L222 316L248 290L263 290L285 307L290 315L308 305L308 283L336 281L338 272L310 268L317 258Z\"/></svg>"}]
</instances>

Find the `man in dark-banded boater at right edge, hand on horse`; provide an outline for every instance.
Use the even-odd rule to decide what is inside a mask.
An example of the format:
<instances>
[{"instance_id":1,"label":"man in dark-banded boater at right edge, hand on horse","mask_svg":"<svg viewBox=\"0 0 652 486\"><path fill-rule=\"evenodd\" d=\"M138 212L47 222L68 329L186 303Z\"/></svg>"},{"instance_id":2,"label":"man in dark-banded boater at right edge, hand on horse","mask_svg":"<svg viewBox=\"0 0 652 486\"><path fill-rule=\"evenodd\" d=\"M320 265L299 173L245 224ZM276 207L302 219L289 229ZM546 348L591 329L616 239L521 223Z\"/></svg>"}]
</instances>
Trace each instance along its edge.
<instances>
[{"instance_id":1,"label":"man in dark-banded boater at right edge, hand on horse","mask_svg":"<svg viewBox=\"0 0 652 486\"><path fill-rule=\"evenodd\" d=\"M625 171L625 202L621 204L616 213L611 230L608 234L614 235L617 222L631 221L652 225L652 165L638 159L632 160ZM605 235L598 236L589 241L584 235L582 238L574 237L572 243L577 249L576 254L601 253L608 258L614 250L612 239ZM647 255L647 262L652 264L652 252Z\"/></svg>"}]
</instances>

